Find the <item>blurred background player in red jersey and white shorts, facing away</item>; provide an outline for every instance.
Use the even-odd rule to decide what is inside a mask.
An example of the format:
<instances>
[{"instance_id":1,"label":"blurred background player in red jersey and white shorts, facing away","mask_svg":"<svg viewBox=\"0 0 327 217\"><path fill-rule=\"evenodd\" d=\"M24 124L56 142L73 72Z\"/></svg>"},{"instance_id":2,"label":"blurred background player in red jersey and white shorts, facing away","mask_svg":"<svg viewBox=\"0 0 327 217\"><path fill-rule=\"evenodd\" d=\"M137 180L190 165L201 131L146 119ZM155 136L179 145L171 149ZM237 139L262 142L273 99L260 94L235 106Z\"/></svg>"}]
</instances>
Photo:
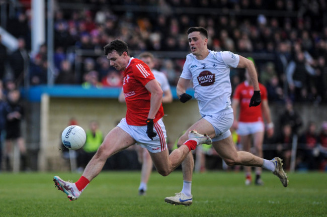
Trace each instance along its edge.
<instances>
[{"instance_id":1,"label":"blurred background player in red jersey and white shorts, facing away","mask_svg":"<svg viewBox=\"0 0 327 217\"><path fill-rule=\"evenodd\" d=\"M252 58L249 58L252 59ZM268 137L272 137L274 134L274 124L272 123L270 116L270 109L268 105L268 97L266 87L259 83L259 88L261 92L262 103L256 107L249 107L250 99L253 95L253 84L249 75L249 72L246 70L245 73L246 80L238 84L235 88L234 95L232 98L231 106L234 111L234 122L232 128L236 130L240 144L243 148L243 151L250 152L251 144L255 147L255 153L257 156L263 158L262 144L264 141L265 135L265 125ZM237 114L239 108L239 115L237 121ZM251 176L251 167L244 166L246 171L246 185L252 183ZM262 185L263 181L261 179L262 167L256 167L256 185Z\"/></svg>"}]
</instances>

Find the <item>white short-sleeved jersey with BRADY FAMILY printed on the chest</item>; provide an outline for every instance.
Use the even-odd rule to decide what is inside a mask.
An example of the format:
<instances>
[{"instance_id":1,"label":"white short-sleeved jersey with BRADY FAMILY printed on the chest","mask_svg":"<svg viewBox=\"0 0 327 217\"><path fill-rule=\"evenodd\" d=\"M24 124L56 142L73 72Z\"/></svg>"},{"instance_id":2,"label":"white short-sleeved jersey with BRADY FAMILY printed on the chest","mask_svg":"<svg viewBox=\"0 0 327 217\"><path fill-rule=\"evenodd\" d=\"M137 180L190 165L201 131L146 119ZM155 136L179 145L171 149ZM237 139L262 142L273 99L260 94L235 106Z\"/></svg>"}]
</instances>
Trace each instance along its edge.
<instances>
[{"instance_id":1,"label":"white short-sleeved jersey with BRADY FAMILY printed on the chest","mask_svg":"<svg viewBox=\"0 0 327 217\"><path fill-rule=\"evenodd\" d=\"M181 78L192 79L194 96L202 116L231 108L230 67L236 68L239 56L229 51L210 51L198 60L193 54L186 56Z\"/></svg>"}]
</instances>

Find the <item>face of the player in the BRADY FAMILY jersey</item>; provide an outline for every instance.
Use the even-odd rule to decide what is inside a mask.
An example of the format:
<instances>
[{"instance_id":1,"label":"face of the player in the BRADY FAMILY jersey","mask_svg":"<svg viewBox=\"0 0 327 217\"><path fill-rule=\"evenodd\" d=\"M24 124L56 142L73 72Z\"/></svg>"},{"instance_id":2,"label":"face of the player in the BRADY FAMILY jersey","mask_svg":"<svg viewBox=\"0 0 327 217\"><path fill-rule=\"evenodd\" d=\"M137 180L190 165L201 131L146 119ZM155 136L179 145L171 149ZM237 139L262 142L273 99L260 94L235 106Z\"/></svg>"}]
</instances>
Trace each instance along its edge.
<instances>
[{"instance_id":1,"label":"face of the player in the BRADY FAMILY jersey","mask_svg":"<svg viewBox=\"0 0 327 217\"><path fill-rule=\"evenodd\" d=\"M203 52L207 52L207 42L208 39L203 37L200 32L192 32L188 36L189 46L191 48L192 54L195 56L201 55Z\"/></svg>"}]
</instances>

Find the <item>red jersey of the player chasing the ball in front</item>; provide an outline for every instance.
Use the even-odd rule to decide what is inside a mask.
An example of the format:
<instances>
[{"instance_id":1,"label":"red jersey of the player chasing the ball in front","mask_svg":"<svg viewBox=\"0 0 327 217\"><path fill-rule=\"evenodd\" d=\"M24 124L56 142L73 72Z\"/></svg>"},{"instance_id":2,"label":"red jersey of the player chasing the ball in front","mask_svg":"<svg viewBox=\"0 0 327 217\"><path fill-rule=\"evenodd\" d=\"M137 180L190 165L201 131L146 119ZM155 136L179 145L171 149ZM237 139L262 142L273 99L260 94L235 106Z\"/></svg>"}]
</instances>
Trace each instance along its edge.
<instances>
[{"instance_id":1,"label":"red jersey of the player chasing the ball in front","mask_svg":"<svg viewBox=\"0 0 327 217\"><path fill-rule=\"evenodd\" d=\"M127 106L126 122L128 125L145 126L151 98L145 85L155 78L143 61L133 57L129 60L123 76L123 92ZM153 122L157 122L162 117L163 108L161 104Z\"/></svg>"}]
</instances>

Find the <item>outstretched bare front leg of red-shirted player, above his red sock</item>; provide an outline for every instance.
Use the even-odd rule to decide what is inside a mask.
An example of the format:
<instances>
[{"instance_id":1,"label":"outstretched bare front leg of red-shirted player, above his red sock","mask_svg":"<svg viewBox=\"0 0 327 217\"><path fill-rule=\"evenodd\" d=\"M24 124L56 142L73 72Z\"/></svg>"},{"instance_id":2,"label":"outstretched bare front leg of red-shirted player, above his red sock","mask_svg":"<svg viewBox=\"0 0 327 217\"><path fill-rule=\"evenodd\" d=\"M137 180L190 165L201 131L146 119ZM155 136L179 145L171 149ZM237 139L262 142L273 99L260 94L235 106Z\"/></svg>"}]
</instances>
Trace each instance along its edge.
<instances>
[{"instance_id":1,"label":"outstretched bare front leg of red-shirted player, above his red sock","mask_svg":"<svg viewBox=\"0 0 327 217\"><path fill-rule=\"evenodd\" d=\"M107 134L98 151L86 166L83 176L91 181L101 172L110 156L128 148L135 142L128 133L120 127L115 127Z\"/></svg>"}]
</instances>

